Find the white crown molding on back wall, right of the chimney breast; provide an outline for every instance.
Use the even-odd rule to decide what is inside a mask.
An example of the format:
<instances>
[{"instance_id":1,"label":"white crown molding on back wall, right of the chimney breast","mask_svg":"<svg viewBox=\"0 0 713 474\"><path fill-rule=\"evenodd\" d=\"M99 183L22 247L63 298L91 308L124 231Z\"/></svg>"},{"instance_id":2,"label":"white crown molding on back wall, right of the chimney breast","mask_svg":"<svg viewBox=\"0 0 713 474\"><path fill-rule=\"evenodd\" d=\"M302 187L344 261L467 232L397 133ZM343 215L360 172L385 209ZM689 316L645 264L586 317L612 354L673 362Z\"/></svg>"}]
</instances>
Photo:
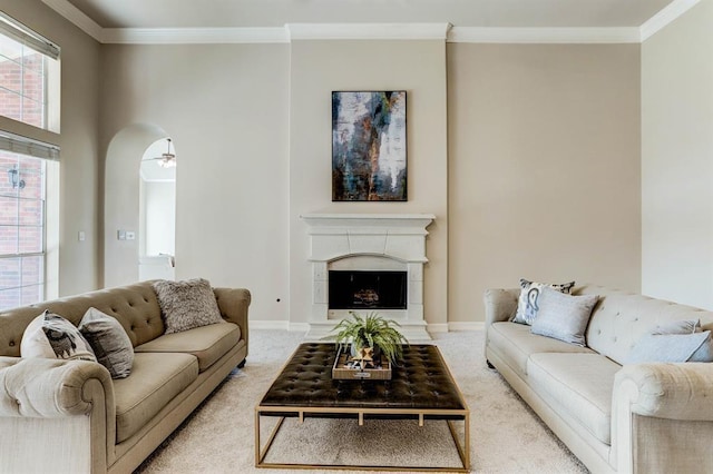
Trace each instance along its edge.
<instances>
[{"instance_id":1,"label":"white crown molding on back wall, right of the chimney breast","mask_svg":"<svg viewBox=\"0 0 713 474\"><path fill-rule=\"evenodd\" d=\"M636 43L638 28L467 28L453 27L448 42Z\"/></svg>"}]
</instances>

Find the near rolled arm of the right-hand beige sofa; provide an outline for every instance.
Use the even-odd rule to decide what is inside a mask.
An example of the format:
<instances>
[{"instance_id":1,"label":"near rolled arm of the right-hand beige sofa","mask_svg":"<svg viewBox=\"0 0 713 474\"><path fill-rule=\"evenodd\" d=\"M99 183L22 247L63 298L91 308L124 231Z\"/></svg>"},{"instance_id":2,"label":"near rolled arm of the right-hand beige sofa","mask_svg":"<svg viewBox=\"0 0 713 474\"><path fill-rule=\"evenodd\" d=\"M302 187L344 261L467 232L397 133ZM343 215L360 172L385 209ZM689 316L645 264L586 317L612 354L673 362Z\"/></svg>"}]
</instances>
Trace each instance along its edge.
<instances>
[{"instance_id":1,"label":"near rolled arm of the right-hand beige sofa","mask_svg":"<svg viewBox=\"0 0 713 474\"><path fill-rule=\"evenodd\" d=\"M712 364L625 365L614 378L611 464L626 473L703 472L711 401Z\"/></svg>"}]
</instances>

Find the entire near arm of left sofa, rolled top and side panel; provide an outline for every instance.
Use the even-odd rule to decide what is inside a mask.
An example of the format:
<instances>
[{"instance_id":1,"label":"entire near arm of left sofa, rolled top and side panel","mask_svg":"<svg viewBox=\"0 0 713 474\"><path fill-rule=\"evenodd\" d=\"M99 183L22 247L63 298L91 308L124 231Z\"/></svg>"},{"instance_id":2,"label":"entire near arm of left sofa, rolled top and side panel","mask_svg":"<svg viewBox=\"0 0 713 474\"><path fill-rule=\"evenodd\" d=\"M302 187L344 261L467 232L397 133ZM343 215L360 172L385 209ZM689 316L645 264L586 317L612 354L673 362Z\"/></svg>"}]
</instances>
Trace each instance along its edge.
<instances>
[{"instance_id":1,"label":"entire near arm of left sofa, rolled top and side panel","mask_svg":"<svg viewBox=\"0 0 713 474\"><path fill-rule=\"evenodd\" d=\"M0 443L8 472L106 473L116 458L109 371L87 361L0 356L0 432L14 436Z\"/></svg>"}]
</instances>

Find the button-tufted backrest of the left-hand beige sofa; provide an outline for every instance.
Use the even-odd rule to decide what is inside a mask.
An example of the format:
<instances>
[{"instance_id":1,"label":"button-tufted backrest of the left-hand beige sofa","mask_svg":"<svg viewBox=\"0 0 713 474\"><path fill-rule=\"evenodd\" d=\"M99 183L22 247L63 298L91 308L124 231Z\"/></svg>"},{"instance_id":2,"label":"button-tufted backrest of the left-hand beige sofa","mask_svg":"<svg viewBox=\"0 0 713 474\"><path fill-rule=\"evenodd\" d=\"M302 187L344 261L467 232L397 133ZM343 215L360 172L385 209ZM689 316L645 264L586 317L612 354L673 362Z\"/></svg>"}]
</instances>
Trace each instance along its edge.
<instances>
[{"instance_id":1,"label":"button-tufted backrest of the left-hand beige sofa","mask_svg":"<svg viewBox=\"0 0 713 474\"><path fill-rule=\"evenodd\" d=\"M117 318L134 347L164 334L156 293L150 282L141 282L0 312L0 356L20 356L25 328L45 309L78 326L92 306Z\"/></svg>"}]
</instances>

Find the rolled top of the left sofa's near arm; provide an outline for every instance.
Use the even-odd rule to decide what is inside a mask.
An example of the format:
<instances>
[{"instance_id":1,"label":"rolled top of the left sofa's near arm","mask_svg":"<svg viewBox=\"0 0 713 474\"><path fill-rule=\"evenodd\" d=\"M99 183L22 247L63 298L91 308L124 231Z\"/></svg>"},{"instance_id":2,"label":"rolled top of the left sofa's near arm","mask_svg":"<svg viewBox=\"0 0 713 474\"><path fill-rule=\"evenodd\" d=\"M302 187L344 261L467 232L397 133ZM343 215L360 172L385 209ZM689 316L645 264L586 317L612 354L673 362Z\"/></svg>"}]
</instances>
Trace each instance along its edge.
<instances>
[{"instance_id":1,"label":"rolled top of the left sofa's near arm","mask_svg":"<svg viewBox=\"0 0 713 474\"><path fill-rule=\"evenodd\" d=\"M108 406L114 409L111 376L100 364L0 357L0 416L50 418L88 414L94 402L86 393L89 381L98 381L109 393Z\"/></svg>"}]
</instances>

